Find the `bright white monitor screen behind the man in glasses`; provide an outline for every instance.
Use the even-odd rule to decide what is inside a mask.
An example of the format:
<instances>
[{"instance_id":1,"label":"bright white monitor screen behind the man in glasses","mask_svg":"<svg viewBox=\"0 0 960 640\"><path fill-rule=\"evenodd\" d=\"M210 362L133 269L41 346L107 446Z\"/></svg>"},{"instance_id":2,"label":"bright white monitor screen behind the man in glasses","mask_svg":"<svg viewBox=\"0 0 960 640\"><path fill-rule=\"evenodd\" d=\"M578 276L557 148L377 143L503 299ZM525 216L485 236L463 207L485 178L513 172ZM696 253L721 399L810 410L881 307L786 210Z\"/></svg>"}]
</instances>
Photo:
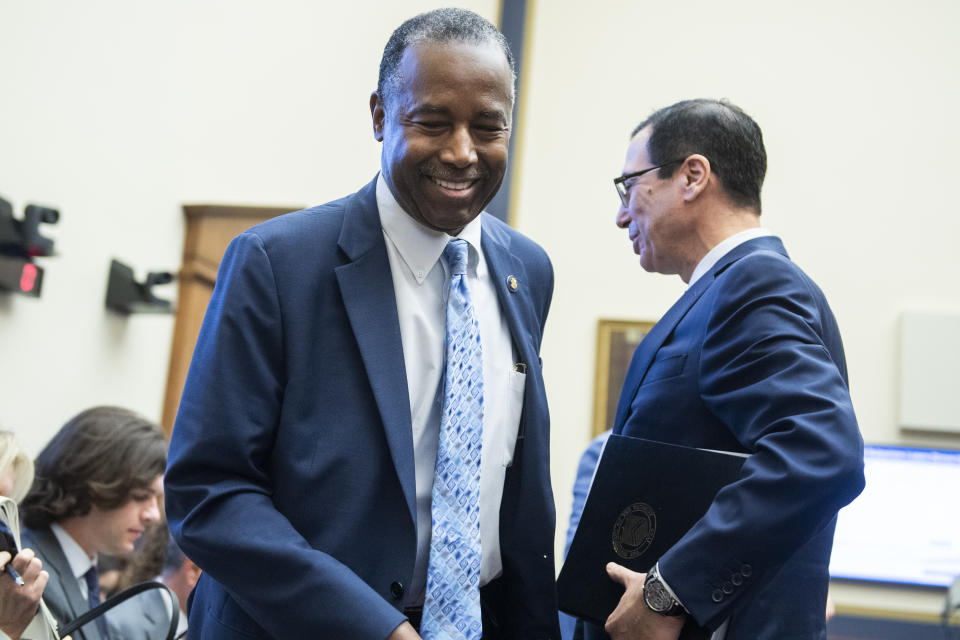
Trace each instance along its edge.
<instances>
[{"instance_id":1,"label":"bright white monitor screen behind the man in glasses","mask_svg":"<svg viewBox=\"0 0 960 640\"><path fill-rule=\"evenodd\" d=\"M947 587L960 575L960 451L867 445L840 510L830 577Z\"/></svg>"}]
</instances>

